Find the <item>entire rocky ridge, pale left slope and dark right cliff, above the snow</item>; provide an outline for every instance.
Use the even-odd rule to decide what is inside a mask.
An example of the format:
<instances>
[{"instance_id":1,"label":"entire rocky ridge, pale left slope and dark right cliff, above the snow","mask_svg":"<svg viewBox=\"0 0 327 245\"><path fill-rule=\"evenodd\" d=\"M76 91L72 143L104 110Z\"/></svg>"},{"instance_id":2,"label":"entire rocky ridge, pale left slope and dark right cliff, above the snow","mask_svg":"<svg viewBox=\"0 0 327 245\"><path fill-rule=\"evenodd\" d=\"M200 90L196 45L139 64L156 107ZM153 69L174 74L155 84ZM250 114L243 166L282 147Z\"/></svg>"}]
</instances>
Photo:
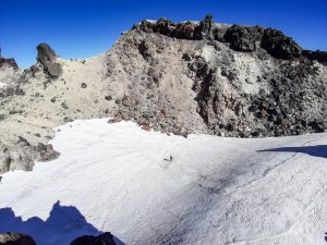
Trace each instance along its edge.
<instances>
[{"instance_id":1,"label":"entire rocky ridge, pale left slope and dark right cliff, above the snow","mask_svg":"<svg viewBox=\"0 0 327 245\"><path fill-rule=\"evenodd\" d=\"M262 26L143 21L97 57L63 60L46 44L35 65L0 59L0 173L59 154L53 127L132 120L164 133L266 137L327 127L327 52Z\"/></svg>"}]
</instances>

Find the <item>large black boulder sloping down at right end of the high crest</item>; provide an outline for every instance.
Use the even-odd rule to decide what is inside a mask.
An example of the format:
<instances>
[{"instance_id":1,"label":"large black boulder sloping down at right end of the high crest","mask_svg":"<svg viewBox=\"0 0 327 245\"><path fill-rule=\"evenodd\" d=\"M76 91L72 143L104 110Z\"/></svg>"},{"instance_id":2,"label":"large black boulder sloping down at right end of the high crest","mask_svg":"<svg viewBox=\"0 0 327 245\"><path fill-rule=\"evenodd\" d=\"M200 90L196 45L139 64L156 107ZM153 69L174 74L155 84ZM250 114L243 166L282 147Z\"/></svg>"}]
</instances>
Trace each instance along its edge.
<instances>
[{"instance_id":1,"label":"large black boulder sloping down at right end of the high crest","mask_svg":"<svg viewBox=\"0 0 327 245\"><path fill-rule=\"evenodd\" d=\"M302 53L302 48L291 37L272 28L264 30L262 48L278 59L298 58Z\"/></svg>"}]
</instances>

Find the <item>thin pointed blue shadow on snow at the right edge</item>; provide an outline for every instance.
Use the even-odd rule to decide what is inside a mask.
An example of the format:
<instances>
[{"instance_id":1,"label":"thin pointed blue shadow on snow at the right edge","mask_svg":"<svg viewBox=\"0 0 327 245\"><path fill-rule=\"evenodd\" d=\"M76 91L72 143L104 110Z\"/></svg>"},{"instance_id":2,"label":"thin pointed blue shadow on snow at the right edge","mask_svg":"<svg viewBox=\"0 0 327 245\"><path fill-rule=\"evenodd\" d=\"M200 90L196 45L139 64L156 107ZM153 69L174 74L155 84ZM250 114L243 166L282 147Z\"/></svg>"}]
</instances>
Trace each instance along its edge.
<instances>
[{"instance_id":1,"label":"thin pointed blue shadow on snow at the right edge","mask_svg":"<svg viewBox=\"0 0 327 245\"><path fill-rule=\"evenodd\" d=\"M299 154L307 154L313 157L327 158L327 145L280 147L275 149L258 150L258 152L263 152L263 151L299 152Z\"/></svg>"}]
</instances>

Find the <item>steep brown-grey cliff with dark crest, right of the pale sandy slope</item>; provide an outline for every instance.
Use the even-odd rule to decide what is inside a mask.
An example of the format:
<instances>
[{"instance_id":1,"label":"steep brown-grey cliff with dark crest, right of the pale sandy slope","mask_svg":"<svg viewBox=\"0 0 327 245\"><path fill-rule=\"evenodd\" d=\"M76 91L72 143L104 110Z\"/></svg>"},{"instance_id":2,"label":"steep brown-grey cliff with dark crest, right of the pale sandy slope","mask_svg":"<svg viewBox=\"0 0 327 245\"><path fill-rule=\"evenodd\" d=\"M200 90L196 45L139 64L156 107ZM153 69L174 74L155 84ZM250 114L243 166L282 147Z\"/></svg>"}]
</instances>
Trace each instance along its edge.
<instances>
[{"instance_id":1,"label":"steep brown-grey cliff with dark crest, right of the pale sandy slope","mask_svg":"<svg viewBox=\"0 0 327 245\"><path fill-rule=\"evenodd\" d=\"M240 137L326 128L324 54L314 61L318 52L303 53L279 30L215 24L209 16L145 21L111 52L134 88L118 100L117 117L168 132Z\"/></svg>"}]
</instances>

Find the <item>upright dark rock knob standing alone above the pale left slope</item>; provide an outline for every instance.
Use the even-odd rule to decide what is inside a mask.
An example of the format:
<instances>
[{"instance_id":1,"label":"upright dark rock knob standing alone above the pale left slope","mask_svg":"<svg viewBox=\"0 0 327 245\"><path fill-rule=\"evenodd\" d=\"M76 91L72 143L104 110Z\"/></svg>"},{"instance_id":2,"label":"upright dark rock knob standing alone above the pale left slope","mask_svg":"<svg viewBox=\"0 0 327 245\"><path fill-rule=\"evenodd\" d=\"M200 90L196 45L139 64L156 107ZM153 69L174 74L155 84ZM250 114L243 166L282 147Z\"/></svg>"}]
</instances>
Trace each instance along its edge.
<instances>
[{"instance_id":1,"label":"upright dark rock knob standing alone above the pale left slope","mask_svg":"<svg viewBox=\"0 0 327 245\"><path fill-rule=\"evenodd\" d=\"M37 61L44 66L45 72L47 72L51 77L58 77L62 73L61 65L56 62L56 53L51 47L47 44L40 44L37 46Z\"/></svg>"}]
</instances>

